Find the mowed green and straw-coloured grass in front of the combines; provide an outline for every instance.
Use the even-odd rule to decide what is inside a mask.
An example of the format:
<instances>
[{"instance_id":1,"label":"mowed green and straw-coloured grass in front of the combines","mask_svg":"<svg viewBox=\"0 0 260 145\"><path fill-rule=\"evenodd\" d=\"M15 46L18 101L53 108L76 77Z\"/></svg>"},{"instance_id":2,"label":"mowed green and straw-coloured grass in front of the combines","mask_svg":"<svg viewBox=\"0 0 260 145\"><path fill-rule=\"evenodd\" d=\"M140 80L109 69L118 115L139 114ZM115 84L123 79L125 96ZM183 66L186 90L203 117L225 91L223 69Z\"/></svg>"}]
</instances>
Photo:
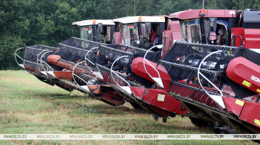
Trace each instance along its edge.
<instances>
[{"instance_id":1,"label":"mowed green and straw-coloured grass in front of the combines","mask_svg":"<svg viewBox=\"0 0 260 145\"><path fill-rule=\"evenodd\" d=\"M129 103L110 106L79 91L41 82L26 71L0 71L1 134L213 134L188 117L167 123ZM256 144L248 140L12 140L0 144Z\"/></svg>"}]
</instances>

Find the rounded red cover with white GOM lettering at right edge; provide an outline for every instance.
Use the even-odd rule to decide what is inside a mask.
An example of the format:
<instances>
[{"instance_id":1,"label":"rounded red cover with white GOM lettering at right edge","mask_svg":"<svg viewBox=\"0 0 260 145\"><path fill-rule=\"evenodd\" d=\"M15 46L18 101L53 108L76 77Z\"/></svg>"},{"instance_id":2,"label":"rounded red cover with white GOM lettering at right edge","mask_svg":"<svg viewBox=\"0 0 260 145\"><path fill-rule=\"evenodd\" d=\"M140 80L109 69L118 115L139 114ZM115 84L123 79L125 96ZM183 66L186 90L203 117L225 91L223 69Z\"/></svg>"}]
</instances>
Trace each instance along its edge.
<instances>
[{"instance_id":1,"label":"rounded red cover with white GOM lettering at right edge","mask_svg":"<svg viewBox=\"0 0 260 145\"><path fill-rule=\"evenodd\" d=\"M259 72L259 65L243 57L232 59L226 69L227 77L258 94L260 93Z\"/></svg>"}]
</instances>

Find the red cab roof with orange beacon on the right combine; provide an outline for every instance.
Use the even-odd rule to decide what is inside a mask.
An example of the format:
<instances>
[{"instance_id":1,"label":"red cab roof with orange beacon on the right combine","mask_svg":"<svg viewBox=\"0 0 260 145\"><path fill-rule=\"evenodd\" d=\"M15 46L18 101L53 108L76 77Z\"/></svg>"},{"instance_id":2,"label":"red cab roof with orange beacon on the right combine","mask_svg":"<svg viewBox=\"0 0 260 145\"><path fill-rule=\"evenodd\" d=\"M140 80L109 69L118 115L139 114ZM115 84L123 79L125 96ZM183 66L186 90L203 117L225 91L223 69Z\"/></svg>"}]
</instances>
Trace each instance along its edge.
<instances>
[{"instance_id":1,"label":"red cab roof with orange beacon on the right combine","mask_svg":"<svg viewBox=\"0 0 260 145\"><path fill-rule=\"evenodd\" d=\"M169 19L177 18L177 19L182 19L182 20L187 20L187 19L195 19L195 18L200 18L201 10L185 10L185 11L180 11L176 13L172 13L169 16ZM206 16L204 17L221 17L221 18L232 18L236 17L236 11L235 10L206 10L205 11Z\"/></svg>"}]
</instances>

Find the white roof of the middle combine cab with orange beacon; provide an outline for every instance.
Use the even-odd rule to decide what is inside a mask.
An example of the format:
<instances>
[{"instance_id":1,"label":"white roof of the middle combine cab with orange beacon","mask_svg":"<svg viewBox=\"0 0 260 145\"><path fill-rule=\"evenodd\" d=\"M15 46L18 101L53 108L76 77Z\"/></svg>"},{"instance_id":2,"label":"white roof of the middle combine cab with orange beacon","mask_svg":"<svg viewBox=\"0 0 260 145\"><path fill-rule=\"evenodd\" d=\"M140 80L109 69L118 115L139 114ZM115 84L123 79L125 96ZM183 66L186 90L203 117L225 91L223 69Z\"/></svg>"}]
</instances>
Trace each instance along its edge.
<instances>
[{"instance_id":1,"label":"white roof of the middle combine cab with orange beacon","mask_svg":"<svg viewBox=\"0 0 260 145\"><path fill-rule=\"evenodd\" d=\"M140 22L165 22L164 16L141 16L142 20ZM113 19L113 22L120 22L123 24L135 23L138 21L139 16L128 16L123 18Z\"/></svg>"}]
</instances>

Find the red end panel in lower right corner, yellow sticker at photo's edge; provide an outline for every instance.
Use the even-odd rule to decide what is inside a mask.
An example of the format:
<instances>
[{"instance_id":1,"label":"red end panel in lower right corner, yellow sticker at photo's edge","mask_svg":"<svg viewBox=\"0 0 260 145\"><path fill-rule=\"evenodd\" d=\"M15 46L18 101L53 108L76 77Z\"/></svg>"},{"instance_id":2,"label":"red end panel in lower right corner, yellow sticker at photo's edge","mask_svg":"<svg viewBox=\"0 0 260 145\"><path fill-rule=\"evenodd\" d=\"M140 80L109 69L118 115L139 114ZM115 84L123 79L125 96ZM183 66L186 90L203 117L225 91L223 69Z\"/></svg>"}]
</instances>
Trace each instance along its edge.
<instances>
[{"instance_id":1,"label":"red end panel in lower right corner, yellow sticker at photo's edge","mask_svg":"<svg viewBox=\"0 0 260 145\"><path fill-rule=\"evenodd\" d=\"M260 127L260 104L245 102L239 119Z\"/></svg>"}]
</instances>

